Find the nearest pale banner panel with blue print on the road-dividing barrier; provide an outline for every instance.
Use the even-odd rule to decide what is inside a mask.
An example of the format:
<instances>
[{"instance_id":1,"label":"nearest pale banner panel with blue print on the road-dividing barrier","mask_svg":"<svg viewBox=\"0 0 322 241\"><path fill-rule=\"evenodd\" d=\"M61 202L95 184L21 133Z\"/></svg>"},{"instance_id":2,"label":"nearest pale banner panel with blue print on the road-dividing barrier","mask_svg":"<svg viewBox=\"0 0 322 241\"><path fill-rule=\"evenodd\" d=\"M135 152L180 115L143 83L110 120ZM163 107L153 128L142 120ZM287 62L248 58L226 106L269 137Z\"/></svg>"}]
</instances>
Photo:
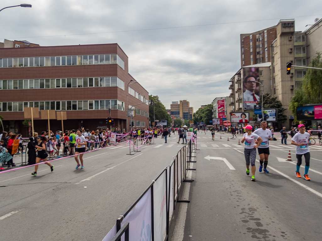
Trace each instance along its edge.
<instances>
[{"instance_id":1,"label":"nearest pale banner panel with blue print on the road-dividing barrier","mask_svg":"<svg viewBox=\"0 0 322 241\"><path fill-rule=\"evenodd\" d=\"M151 240L151 188L138 201L137 205L126 215L121 223L129 222L129 240ZM124 236L121 238L124 240Z\"/></svg>"}]
</instances>

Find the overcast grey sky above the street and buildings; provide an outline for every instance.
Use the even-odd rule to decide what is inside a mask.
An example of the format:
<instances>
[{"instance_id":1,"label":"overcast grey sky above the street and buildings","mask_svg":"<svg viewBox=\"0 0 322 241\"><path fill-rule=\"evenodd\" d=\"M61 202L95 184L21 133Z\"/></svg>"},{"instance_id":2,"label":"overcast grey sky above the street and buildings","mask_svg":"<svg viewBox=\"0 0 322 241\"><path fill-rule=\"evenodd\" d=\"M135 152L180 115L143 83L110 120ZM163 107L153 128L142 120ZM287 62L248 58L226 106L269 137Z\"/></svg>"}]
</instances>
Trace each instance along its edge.
<instances>
[{"instance_id":1,"label":"overcast grey sky above the street and buildings","mask_svg":"<svg viewBox=\"0 0 322 241\"><path fill-rule=\"evenodd\" d=\"M33 6L0 12L1 42L118 43L128 56L129 73L149 94L168 109L172 101L187 99L194 112L229 95L228 81L241 67L241 33L285 18L295 18L295 30L304 31L322 17L321 0L2 0L0 9L22 3ZM207 24L212 25L194 26ZM146 30L156 28L168 29ZM98 32L114 33L84 34ZM39 37L70 34L83 35Z\"/></svg>"}]
</instances>

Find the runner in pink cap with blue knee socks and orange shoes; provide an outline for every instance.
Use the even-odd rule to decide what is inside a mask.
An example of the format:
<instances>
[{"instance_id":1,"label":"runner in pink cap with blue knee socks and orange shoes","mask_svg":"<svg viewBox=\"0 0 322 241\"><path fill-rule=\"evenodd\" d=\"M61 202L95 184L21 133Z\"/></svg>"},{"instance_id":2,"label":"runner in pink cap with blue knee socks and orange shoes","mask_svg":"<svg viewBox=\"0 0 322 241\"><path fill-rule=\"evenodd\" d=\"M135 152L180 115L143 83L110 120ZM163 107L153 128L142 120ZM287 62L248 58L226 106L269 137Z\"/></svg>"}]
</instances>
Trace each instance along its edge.
<instances>
[{"instance_id":1,"label":"runner in pink cap with blue knee socks and orange shoes","mask_svg":"<svg viewBox=\"0 0 322 241\"><path fill-rule=\"evenodd\" d=\"M310 141L310 133L305 132L305 125L300 124L298 125L299 132L296 133L293 138L291 145L295 145L295 153L296 158L298 159L298 163L296 164L296 176L301 177L300 174L300 166L302 164L302 156L304 155L305 158L305 173L304 179L310 181L311 179L308 177L308 169L310 168L310 148L311 141Z\"/></svg>"}]
</instances>

